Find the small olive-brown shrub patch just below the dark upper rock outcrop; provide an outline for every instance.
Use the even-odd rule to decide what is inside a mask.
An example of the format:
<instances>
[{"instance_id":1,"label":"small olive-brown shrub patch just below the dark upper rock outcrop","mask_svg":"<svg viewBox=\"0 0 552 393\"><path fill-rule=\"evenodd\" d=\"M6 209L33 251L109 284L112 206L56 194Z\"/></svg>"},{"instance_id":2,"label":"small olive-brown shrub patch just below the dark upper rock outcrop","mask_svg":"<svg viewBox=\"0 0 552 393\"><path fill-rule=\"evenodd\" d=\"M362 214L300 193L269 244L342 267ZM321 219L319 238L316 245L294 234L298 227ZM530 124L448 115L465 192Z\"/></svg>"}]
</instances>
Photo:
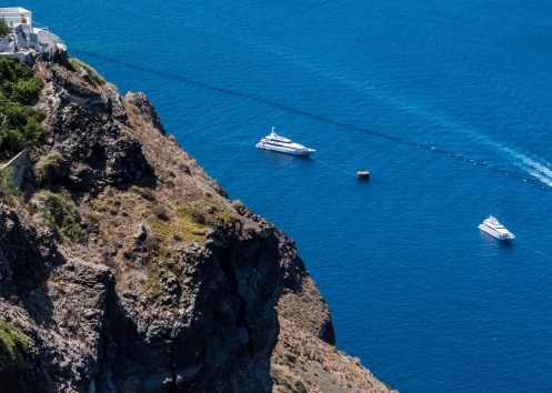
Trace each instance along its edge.
<instances>
[{"instance_id":1,"label":"small olive-brown shrub patch just below the dark upper rock outcrop","mask_svg":"<svg viewBox=\"0 0 552 393\"><path fill-rule=\"evenodd\" d=\"M37 199L42 220L59 239L73 242L84 240L79 211L67 192L53 193L43 190L37 194Z\"/></svg>"}]
</instances>

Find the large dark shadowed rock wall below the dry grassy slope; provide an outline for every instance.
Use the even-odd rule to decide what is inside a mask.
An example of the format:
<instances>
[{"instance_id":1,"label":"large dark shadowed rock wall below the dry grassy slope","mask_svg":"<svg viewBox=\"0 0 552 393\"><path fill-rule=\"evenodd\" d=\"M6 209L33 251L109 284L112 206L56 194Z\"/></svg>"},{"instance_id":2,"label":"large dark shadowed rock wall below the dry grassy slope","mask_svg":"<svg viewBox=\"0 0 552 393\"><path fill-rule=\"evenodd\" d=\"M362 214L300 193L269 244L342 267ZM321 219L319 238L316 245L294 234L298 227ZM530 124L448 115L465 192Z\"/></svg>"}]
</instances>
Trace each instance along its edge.
<instances>
[{"instance_id":1,"label":"large dark shadowed rock wall below the dry grassy slope","mask_svg":"<svg viewBox=\"0 0 552 393\"><path fill-rule=\"evenodd\" d=\"M187 280L160 276L160 299L178 293L172 306L117 292L112 281L96 381L101 391L271 391L278 239L219 231L209 239L209 251L192 246L180 256L193 265Z\"/></svg>"}]
</instances>

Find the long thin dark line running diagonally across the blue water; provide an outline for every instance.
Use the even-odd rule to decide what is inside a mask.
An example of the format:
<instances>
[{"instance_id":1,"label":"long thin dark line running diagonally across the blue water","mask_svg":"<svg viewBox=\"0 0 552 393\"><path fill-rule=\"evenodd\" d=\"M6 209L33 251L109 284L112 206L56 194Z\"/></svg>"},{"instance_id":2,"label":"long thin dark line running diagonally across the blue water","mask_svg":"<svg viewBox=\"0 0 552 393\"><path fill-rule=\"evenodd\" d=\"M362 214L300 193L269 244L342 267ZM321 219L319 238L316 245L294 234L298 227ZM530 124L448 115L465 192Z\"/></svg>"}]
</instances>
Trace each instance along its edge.
<instances>
[{"instance_id":1,"label":"long thin dark line running diagonally across the blue water","mask_svg":"<svg viewBox=\"0 0 552 393\"><path fill-rule=\"evenodd\" d=\"M147 67L142 67L142 66L138 66L138 64L124 62L124 61L121 61L121 60L111 59L111 58L108 58L106 56L102 56L102 54L99 54L99 53L94 53L94 52L90 52L90 51L87 51L87 50L76 49L74 52L82 53L82 54L86 54L86 56L89 56L89 57L93 57L93 58L97 58L97 59L100 59L100 60L103 60L103 61L107 61L107 62L110 62L110 63L114 63L114 64L118 64L118 66L122 66L122 67L126 67L126 68L129 68L129 69L133 69L133 70L138 70L138 71L141 71L141 72L154 74L154 75L158 75L158 77L171 79L173 81L178 81L178 82L181 82L181 83L194 85L197 88L201 88L201 89L205 89L205 90L211 90L211 91L214 91L214 92L218 92L218 93L222 93L222 94L232 95L232 97L237 97L237 98L240 98L240 99L244 99L244 100L258 102L258 103L261 103L261 104L264 104L264 105L268 105L268 107L280 109L280 110L285 111L285 112L298 114L298 115L301 115L301 117L304 117L304 118L310 118L312 120L317 120L317 121L320 121L320 122L325 123L325 124L339 127L341 129L347 129L349 131L362 132L362 133L365 133L365 134L369 134L369 135L372 135L372 137L377 137L377 138L381 138L381 139L387 139L387 140L390 140L392 142L409 144L409 145L415 147L418 149L428 150L428 151L431 151L431 152L436 153L436 154L445 155L445 157L449 157L449 158L452 158L452 159L455 159L455 160L459 160L459 161L463 161L463 162L471 163L471 164L474 164L474 165L478 165L478 167L481 167L481 168L489 169L489 170L491 170L491 171L493 171L493 172L495 172L498 174L501 174L501 175L505 175L505 177L509 177L509 178L519 179L519 180L521 180L521 181L523 181L523 182L525 182L528 184L535 185L535 187L538 187L538 188L540 188L542 190L545 190L545 191L552 191L551 187L544 185L544 184L548 184L548 183L546 182L543 183L542 179L530 177L530 175L526 175L526 174L523 174L523 173L512 172L512 171L509 171L509 170L495 167L493 164L490 164L490 163L488 163L485 161L481 161L481 160L475 160L475 159L471 159L471 158L468 158L468 157L463 157L461 154L458 154L458 153L454 153L452 151L448 151L448 150L444 150L444 149L438 149L433 144L420 143L420 142L411 141L411 140L403 139L403 138L400 138L400 137L385 134L385 133L378 132L378 131L374 131L374 130L370 130L370 129L367 129L367 128L363 128L363 127L359 127L359 125L345 123L345 122L342 122L342 121L339 121L339 120L335 120L335 119L331 119L331 118L328 118L328 117L324 117L324 115L321 115L321 114L308 112L308 111L304 111L304 110L301 110L301 109L298 109L298 108L288 107L285 104L282 104L282 103L277 102L277 101L272 101L272 100L263 98L263 97L259 97L259 95L245 93L245 92L238 91L238 90L221 88L221 87L209 84L209 83L205 83L205 82L202 82L202 81L198 81L198 80L193 80L193 79L190 79L190 78L185 78L185 77L182 77L182 75L179 75L179 74L175 74L175 73L159 71L159 70L154 70L154 69L151 69L151 68L147 68ZM324 165L328 165L328 167L334 168L337 170L340 170L339 168L332 167L329 163L324 163L324 162L322 162L320 160L318 160L318 161L320 163L324 164ZM344 172L344 173L348 173L348 172Z\"/></svg>"}]
</instances>

